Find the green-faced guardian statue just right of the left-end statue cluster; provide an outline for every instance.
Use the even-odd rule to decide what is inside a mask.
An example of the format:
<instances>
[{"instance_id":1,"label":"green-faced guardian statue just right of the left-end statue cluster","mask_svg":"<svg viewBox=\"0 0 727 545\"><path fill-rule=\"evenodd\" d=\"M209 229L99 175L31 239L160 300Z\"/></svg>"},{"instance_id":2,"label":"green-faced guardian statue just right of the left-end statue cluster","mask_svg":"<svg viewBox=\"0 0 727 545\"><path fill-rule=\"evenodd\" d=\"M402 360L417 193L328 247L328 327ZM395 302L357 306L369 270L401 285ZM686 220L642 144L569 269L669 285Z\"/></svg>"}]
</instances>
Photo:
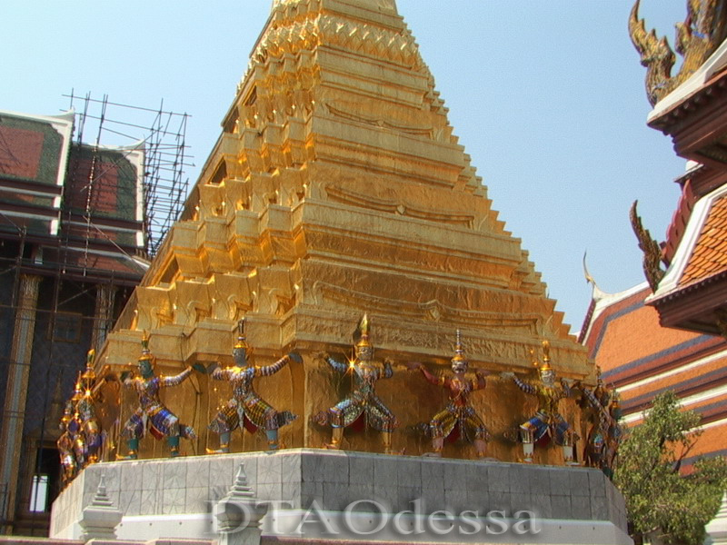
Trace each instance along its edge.
<instances>
[{"instance_id":1,"label":"green-faced guardian statue just right of the left-end statue cluster","mask_svg":"<svg viewBox=\"0 0 727 545\"><path fill-rule=\"evenodd\" d=\"M164 406L159 399L159 390L181 384L192 374L192 368L187 367L174 377L157 377L154 374L154 356L149 351L149 337L144 332L138 369L140 376L124 378L124 386L133 389L139 396L139 406L126 421L121 432L129 449L125 458L130 460L137 458L139 439L144 437L147 428L155 439L161 440L166 437L170 455L179 456L179 438L195 439L196 435L191 427L181 424L174 413Z\"/></svg>"}]
</instances>

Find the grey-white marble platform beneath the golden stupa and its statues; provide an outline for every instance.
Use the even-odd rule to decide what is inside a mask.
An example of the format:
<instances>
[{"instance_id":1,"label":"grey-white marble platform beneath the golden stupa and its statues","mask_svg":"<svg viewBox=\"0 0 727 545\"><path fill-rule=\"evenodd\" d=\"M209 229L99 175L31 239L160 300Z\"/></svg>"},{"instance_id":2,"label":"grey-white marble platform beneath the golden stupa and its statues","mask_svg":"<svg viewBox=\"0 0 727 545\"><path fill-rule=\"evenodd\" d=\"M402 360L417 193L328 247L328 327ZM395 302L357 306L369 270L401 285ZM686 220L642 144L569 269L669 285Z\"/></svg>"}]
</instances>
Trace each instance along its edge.
<instances>
[{"instance_id":1,"label":"grey-white marble platform beneath the golden stupa and its statues","mask_svg":"<svg viewBox=\"0 0 727 545\"><path fill-rule=\"evenodd\" d=\"M631 542L622 496L601 471L314 449L95 464L55 500L51 537L78 539L81 511L104 474L109 498L124 512L116 529L119 539L214 539L212 505L227 493L241 463L257 498L288 502L283 508L271 507L263 520L262 540L271 545L305 540ZM346 520L346 507L357 500L367 500L359 508L371 512L353 512ZM453 519L440 513L431 523L432 513L441 510ZM528 518L516 516L523 510L532 511L537 533L513 533L514 522ZM394 524L393 515L401 511L417 512L403 513ZM490 511L498 511L493 515L498 520L488 522ZM320 517L330 525L317 521ZM302 519L307 520L303 533L296 532ZM352 520L358 525L355 531L347 527ZM382 530L358 533L375 530L382 520L388 520ZM496 533L503 526L507 530ZM341 533L332 533L331 527Z\"/></svg>"}]
</instances>

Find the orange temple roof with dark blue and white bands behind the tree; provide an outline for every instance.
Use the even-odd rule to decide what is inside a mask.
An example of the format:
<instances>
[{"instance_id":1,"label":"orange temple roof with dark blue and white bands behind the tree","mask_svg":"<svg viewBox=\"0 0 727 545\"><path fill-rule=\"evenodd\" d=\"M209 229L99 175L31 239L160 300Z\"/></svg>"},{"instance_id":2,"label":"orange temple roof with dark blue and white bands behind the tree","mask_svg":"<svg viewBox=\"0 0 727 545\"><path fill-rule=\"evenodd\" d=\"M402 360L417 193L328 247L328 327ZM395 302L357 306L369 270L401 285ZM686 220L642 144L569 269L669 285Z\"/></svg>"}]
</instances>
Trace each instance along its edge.
<instances>
[{"instance_id":1,"label":"orange temple roof with dark blue and white bands behind the tree","mask_svg":"<svg viewBox=\"0 0 727 545\"><path fill-rule=\"evenodd\" d=\"M662 327L659 313L644 301L647 283L593 301L583 344L603 370L603 380L622 396L624 423L642 418L653 396L672 390L684 406L702 415L702 424L727 414L724 381L727 342L722 338ZM722 436L723 437L723 436ZM702 444L712 454L723 440Z\"/></svg>"}]
</instances>

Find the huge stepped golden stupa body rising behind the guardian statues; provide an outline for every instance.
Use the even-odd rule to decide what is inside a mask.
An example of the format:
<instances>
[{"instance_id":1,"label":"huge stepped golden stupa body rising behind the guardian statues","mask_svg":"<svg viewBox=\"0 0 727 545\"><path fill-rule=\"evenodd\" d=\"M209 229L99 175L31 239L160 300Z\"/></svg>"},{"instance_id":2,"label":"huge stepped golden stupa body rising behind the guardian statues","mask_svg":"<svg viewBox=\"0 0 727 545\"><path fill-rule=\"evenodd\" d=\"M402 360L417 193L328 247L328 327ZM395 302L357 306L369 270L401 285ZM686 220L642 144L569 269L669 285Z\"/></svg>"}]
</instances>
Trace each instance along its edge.
<instances>
[{"instance_id":1,"label":"huge stepped golden stupa body rising behind the guardian statues","mask_svg":"<svg viewBox=\"0 0 727 545\"><path fill-rule=\"evenodd\" d=\"M302 355L255 387L298 415L281 428L285 446L319 448L331 431L311 416L351 381L314 356L352 357L352 332L367 312L374 360L394 362L393 377L376 386L401 421L393 448L419 454L430 441L413 426L442 409L446 392L403 363L448 372L460 328L470 371L493 372L471 402L493 436L487 456L500 461L520 456L503 432L535 407L498 372L533 372L531 351L547 340L560 377L593 383L585 349L453 135L393 0L274 2L222 126L100 363L133 364L145 330L157 373L231 364L244 318L256 365ZM165 396L199 436L183 440L182 453L216 448L206 425L229 385L196 374ZM583 437L573 401L562 411ZM379 435L346 429L343 448L382 451ZM166 455L161 441L141 443L142 458ZM259 434L233 434L232 451L265 448ZM444 455L474 451L446 443ZM536 449L535 461L563 463L563 454Z\"/></svg>"}]
</instances>

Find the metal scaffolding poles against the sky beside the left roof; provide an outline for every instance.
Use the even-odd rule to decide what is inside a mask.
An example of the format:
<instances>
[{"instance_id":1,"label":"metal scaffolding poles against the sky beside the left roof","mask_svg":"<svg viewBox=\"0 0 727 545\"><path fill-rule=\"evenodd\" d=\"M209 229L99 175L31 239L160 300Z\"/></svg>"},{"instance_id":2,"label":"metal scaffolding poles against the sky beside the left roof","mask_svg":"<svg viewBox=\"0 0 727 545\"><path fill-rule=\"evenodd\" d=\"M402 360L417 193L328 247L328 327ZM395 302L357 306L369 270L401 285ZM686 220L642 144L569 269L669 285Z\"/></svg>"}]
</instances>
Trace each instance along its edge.
<instances>
[{"instance_id":1,"label":"metal scaffolding poles against the sky beside the left roof","mask_svg":"<svg viewBox=\"0 0 727 545\"><path fill-rule=\"evenodd\" d=\"M78 96L72 90L64 96L76 112L77 144L84 144L85 133L95 130L95 156L102 145L144 150L145 257L153 257L184 206L189 185L184 169L194 167L189 163L193 156L188 154L185 141L189 114L165 110L164 100L154 109L111 102L107 94L96 99L90 93ZM93 229L90 196L92 191L103 191L103 187L94 186L101 174L92 168L88 180L89 232Z\"/></svg>"}]
</instances>

